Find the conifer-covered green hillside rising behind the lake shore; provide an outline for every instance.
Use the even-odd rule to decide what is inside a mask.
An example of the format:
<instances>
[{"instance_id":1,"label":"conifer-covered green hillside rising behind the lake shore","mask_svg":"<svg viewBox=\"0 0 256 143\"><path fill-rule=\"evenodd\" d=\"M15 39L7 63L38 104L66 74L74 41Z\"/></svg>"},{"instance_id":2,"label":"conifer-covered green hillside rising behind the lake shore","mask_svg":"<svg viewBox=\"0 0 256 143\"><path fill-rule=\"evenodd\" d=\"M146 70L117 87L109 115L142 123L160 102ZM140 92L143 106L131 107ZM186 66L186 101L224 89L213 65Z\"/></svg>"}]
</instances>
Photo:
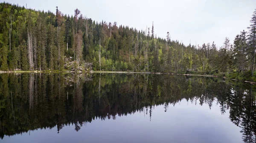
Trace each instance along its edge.
<instances>
[{"instance_id":1,"label":"conifer-covered green hillside rising behind the lake shore","mask_svg":"<svg viewBox=\"0 0 256 143\"><path fill-rule=\"evenodd\" d=\"M165 38L157 37L153 23L139 30L96 22L78 9L70 16L58 7L53 13L0 3L0 70L70 70L92 62L93 70L253 74L256 11L248 26L218 48L214 42L183 45L167 31Z\"/></svg>"}]
</instances>

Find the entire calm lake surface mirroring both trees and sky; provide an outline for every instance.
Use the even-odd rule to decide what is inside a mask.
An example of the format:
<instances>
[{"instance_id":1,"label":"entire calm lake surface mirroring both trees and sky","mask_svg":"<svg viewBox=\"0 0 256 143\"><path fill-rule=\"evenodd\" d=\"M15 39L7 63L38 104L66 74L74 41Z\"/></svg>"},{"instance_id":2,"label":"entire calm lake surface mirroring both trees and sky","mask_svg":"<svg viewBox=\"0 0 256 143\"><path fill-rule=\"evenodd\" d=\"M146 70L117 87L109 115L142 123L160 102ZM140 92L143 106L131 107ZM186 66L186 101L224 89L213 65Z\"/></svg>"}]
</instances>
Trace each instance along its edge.
<instances>
[{"instance_id":1,"label":"entire calm lake surface mirroring both trees and sky","mask_svg":"<svg viewBox=\"0 0 256 143\"><path fill-rule=\"evenodd\" d=\"M255 143L255 93L204 77L0 74L0 142Z\"/></svg>"}]
</instances>

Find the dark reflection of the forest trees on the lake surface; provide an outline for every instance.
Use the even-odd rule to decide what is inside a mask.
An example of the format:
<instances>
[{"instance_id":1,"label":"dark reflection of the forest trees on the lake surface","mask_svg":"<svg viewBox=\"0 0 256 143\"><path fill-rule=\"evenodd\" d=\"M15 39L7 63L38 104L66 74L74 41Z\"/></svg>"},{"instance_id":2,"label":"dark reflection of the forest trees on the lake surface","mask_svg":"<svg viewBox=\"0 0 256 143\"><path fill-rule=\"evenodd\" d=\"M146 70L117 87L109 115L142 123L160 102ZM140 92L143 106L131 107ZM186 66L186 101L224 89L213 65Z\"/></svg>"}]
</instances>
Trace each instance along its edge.
<instances>
[{"instance_id":1,"label":"dark reflection of the forest trees on the lake surface","mask_svg":"<svg viewBox=\"0 0 256 143\"><path fill-rule=\"evenodd\" d=\"M95 119L113 119L135 112L157 118L154 108L164 112L186 100L193 105L219 107L241 128L244 143L256 135L255 86L201 77L61 73L0 74L0 137L35 129L74 125Z\"/></svg>"}]
</instances>

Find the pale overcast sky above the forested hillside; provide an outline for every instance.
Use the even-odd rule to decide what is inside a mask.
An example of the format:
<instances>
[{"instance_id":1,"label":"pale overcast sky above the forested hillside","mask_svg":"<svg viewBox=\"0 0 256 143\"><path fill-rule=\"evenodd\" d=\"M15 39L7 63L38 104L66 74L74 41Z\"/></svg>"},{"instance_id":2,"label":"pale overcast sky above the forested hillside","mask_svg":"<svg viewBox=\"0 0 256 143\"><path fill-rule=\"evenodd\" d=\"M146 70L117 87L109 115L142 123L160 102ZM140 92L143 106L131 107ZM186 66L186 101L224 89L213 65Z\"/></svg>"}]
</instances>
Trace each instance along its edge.
<instances>
[{"instance_id":1,"label":"pale overcast sky above the forested hillside","mask_svg":"<svg viewBox=\"0 0 256 143\"><path fill-rule=\"evenodd\" d=\"M2 0L0 0L2 1ZM55 7L63 14L81 14L96 21L117 22L139 30L152 26L157 37L166 37L185 45L202 45L215 41L223 45L225 37L233 44L234 37L247 31L256 8L256 0L7 0L35 10Z\"/></svg>"}]
</instances>

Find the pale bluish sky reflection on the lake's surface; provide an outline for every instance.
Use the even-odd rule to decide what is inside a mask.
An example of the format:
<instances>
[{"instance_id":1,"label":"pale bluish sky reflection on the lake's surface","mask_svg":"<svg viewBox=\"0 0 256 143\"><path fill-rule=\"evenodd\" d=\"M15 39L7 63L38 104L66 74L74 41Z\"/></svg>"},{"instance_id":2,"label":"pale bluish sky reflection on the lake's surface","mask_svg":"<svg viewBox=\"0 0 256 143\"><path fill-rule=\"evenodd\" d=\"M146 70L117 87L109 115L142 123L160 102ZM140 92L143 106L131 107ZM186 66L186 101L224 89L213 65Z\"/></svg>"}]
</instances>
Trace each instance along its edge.
<instances>
[{"instance_id":1,"label":"pale bluish sky reflection on the lake's surface","mask_svg":"<svg viewBox=\"0 0 256 143\"><path fill-rule=\"evenodd\" d=\"M154 106L149 112L135 112L113 119L96 119L84 123L76 132L75 126L38 129L22 135L5 136L2 143L243 143L241 128L230 122L229 110L221 114L214 101L195 105L183 99L175 106Z\"/></svg>"}]
</instances>

